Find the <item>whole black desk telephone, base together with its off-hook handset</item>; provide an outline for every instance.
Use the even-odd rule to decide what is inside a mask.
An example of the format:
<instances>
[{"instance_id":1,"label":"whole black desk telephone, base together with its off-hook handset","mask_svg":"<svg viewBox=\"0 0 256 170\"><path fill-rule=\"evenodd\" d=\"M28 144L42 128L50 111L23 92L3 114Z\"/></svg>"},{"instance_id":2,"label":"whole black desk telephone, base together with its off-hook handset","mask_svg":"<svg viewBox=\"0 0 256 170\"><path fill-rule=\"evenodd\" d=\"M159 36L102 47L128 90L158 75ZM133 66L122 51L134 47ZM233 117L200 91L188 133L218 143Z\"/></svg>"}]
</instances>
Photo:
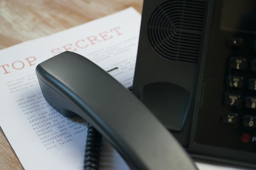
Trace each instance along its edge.
<instances>
[{"instance_id":1,"label":"whole black desk telephone, base together with its off-hook handset","mask_svg":"<svg viewBox=\"0 0 256 170\"><path fill-rule=\"evenodd\" d=\"M36 73L47 101L88 120L131 169L196 169L177 141L255 168L255 21L254 0L145 0L133 94L72 52Z\"/></svg>"}]
</instances>

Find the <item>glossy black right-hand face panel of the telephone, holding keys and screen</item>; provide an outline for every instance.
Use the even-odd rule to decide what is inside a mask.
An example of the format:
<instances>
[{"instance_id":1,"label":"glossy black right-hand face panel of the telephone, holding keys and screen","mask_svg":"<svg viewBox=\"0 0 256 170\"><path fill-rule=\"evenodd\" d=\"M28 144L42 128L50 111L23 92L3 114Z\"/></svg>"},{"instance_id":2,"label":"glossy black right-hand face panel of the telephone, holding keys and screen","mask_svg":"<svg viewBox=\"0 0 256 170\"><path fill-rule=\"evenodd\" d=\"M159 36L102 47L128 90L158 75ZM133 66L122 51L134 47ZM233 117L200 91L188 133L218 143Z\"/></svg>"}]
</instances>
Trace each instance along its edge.
<instances>
[{"instance_id":1,"label":"glossy black right-hand face panel of the telephone, holding keys and screen","mask_svg":"<svg viewBox=\"0 0 256 170\"><path fill-rule=\"evenodd\" d=\"M202 60L204 77L199 84L200 103L196 101L198 119L193 124L193 153L203 152L206 157L230 162L243 161L256 168L256 25L252 26L255 12L249 15L251 11L245 10L236 24L230 24L223 18L234 17L232 14L237 15L242 8L238 3L233 8L232 0L229 5L227 0L214 2L219 2L214 6L219 13L213 13L207 37L209 46L205 49L207 58ZM226 7L230 7L227 13Z\"/></svg>"}]
</instances>

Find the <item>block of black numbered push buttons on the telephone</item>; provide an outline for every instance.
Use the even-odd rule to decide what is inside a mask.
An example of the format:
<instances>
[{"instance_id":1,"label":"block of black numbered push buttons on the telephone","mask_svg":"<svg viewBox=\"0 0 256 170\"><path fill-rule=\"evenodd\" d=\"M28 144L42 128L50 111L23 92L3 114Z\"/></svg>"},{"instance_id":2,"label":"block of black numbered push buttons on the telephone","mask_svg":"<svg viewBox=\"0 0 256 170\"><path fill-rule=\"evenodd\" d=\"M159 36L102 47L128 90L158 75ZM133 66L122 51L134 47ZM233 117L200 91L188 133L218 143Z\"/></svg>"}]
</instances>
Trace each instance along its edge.
<instances>
[{"instance_id":1,"label":"block of black numbered push buttons on the telephone","mask_svg":"<svg viewBox=\"0 0 256 170\"><path fill-rule=\"evenodd\" d=\"M234 42L243 42L239 41L239 38L228 38L227 45L231 46L232 41L232 47L237 45ZM236 48L234 51L238 53L239 50ZM237 125L241 122L244 128L256 129L255 57L256 54L253 52L237 57L232 54L229 57L225 76L225 90L223 92L225 106L221 115L221 121L225 124Z\"/></svg>"}]
</instances>

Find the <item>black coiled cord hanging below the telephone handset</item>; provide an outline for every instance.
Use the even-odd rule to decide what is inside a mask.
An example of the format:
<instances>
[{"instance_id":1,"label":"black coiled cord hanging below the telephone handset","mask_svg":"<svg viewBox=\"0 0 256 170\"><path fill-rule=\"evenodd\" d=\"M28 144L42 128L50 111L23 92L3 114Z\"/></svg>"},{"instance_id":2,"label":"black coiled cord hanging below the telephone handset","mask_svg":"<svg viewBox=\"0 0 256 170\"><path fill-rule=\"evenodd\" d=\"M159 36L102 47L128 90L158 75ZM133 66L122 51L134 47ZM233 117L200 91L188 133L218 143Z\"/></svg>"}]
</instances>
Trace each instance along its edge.
<instances>
[{"instance_id":1,"label":"black coiled cord hanging below the telephone handset","mask_svg":"<svg viewBox=\"0 0 256 170\"><path fill-rule=\"evenodd\" d=\"M99 155L102 136L91 124L88 124L87 127L83 169L99 170Z\"/></svg>"}]
</instances>

